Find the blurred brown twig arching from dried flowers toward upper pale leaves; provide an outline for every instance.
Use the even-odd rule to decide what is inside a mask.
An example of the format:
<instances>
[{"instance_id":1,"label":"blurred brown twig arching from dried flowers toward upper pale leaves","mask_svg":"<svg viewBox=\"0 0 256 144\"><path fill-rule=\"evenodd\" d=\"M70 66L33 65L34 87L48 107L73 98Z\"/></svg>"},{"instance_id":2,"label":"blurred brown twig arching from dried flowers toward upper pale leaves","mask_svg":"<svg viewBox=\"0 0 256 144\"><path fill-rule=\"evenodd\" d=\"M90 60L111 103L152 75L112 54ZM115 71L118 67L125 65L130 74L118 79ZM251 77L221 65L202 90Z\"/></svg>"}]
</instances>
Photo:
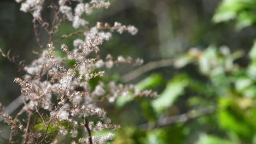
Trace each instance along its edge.
<instances>
[{"instance_id":1,"label":"blurred brown twig arching from dried flowers toward upper pale leaves","mask_svg":"<svg viewBox=\"0 0 256 144\"><path fill-rule=\"evenodd\" d=\"M157 69L157 68L162 68L162 67L168 67L171 65L173 65L173 59L162 59L160 61L149 62L131 71L130 73L123 75L122 80L124 82L129 82L135 79L136 77L146 73L147 71Z\"/></svg>"}]
</instances>

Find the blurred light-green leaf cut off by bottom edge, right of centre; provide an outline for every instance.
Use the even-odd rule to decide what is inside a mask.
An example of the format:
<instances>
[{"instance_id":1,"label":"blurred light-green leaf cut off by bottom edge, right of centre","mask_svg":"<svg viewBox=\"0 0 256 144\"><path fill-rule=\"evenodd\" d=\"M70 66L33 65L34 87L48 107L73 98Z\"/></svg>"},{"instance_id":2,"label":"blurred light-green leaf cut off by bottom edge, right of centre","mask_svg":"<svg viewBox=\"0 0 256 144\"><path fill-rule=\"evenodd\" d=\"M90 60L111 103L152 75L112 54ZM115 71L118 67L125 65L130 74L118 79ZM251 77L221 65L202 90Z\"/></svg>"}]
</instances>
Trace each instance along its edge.
<instances>
[{"instance_id":1,"label":"blurred light-green leaf cut off by bottom edge, right of centre","mask_svg":"<svg viewBox=\"0 0 256 144\"><path fill-rule=\"evenodd\" d=\"M232 144L234 142L230 140L221 139L220 137L213 136L213 135L207 135L207 134L201 134L199 136L199 140L196 142L196 144Z\"/></svg>"}]
</instances>

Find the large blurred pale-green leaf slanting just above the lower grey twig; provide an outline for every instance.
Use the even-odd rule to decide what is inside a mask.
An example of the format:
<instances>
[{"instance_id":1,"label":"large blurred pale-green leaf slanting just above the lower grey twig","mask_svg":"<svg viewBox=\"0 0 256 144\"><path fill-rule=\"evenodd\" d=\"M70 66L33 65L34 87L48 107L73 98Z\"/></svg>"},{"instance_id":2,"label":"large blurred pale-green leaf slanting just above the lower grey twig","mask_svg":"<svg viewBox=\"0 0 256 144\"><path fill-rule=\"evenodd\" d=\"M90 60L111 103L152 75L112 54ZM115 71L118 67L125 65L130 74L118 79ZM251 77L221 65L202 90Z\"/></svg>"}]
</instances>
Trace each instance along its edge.
<instances>
[{"instance_id":1,"label":"large blurred pale-green leaf slanting just above the lower grey twig","mask_svg":"<svg viewBox=\"0 0 256 144\"><path fill-rule=\"evenodd\" d=\"M159 97L152 101L155 111L160 113L171 106L183 94L184 88L188 86L188 83L189 78L187 75L178 75L170 80Z\"/></svg>"}]
</instances>

